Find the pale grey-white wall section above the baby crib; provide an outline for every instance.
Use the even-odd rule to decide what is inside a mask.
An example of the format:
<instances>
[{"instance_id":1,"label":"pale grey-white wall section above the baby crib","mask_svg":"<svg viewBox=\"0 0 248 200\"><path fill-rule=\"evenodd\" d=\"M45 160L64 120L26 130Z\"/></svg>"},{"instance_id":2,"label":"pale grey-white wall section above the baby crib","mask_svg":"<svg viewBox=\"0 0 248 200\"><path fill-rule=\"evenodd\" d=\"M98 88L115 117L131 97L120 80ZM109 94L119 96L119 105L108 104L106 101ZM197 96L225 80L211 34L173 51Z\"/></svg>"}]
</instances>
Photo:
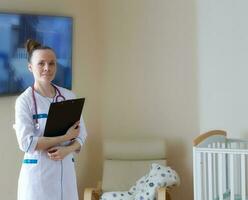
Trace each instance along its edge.
<instances>
[{"instance_id":1,"label":"pale grey-white wall section above the baby crib","mask_svg":"<svg viewBox=\"0 0 248 200\"><path fill-rule=\"evenodd\" d=\"M198 0L200 129L248 136L248 2Z\"/></svg>"}]
</instances>

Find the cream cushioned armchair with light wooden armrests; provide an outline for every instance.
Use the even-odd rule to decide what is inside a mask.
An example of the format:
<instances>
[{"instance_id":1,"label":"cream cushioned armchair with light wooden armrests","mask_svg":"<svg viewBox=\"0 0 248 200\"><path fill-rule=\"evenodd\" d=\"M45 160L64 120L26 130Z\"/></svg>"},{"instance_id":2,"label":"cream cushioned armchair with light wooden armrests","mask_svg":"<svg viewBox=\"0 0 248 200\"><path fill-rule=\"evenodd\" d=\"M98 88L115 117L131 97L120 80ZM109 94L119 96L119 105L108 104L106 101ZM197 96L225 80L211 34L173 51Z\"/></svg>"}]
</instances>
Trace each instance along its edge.
<instances>
[{"instance_id":1,"label":"cream cushioned armchair with light wooden armrests","mask_svg":"<svg viewBox=\"0 0 248 200\"><path fill-rule=\"evenodd\" d=\"M128 191L148 173L152 163L166 166L165 141L156 139L116 140L103 142L103 179L95 188L86 188L84 200L98 200L103 192ZM156 191L157 200L170 200L169 190Z\"/></svg>"}]
</instances>

